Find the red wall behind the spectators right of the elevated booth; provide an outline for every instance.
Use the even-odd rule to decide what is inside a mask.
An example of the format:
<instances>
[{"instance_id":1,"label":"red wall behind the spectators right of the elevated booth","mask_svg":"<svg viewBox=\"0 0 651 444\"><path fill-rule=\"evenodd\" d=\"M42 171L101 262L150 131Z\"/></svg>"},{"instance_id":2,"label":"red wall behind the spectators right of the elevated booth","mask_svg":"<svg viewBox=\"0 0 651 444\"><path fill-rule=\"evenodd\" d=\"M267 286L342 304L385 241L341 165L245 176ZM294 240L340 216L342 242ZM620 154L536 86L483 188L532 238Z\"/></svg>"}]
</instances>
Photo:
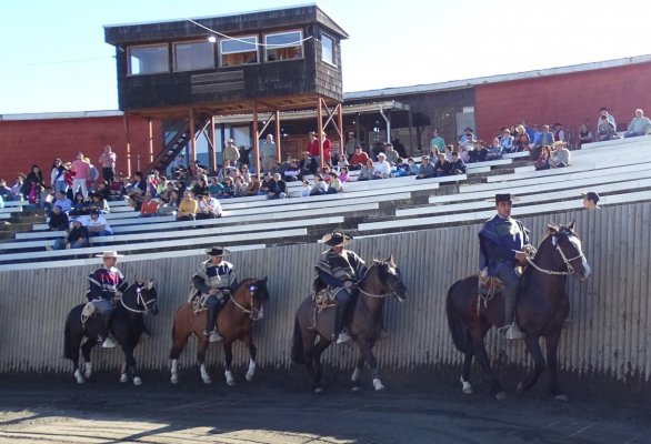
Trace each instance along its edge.
<instances>
[{"instance_id":1,"label":"red wall behind the spectators right of the elevated booth","mask_svg":"<svg viewBox=\"0 0 651 444\"><path fill-rule=\"evenodd\" d=\"M594 133L601 107L610 109L618 127L628 125L637 108L651 115L650 79L651 63L639 63L478 85L478 133L487 140L524 119L530 124L562 123L575 140L581 123Z\"/></svg>"}]
</instances>

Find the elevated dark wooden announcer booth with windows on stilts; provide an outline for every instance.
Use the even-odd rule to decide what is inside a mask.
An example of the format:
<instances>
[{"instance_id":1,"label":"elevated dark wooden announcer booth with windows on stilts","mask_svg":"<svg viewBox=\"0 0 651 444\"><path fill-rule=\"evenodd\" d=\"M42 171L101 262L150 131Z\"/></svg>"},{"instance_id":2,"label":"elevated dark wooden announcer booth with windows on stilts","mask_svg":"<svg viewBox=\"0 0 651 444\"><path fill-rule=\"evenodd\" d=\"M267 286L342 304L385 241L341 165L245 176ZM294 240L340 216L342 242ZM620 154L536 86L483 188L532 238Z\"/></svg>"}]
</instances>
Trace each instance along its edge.
<instances>
[{"instance_id":1,"label":"elevated dark wooden announcer booth with windows on stilts","mask_svg":"<svg viewBox=\"0 0 651 444\"><path fill-rule=\"evenodd\" d=\"M281 111L316 110L319 131L343 145L341 46L348 34L319 7L104 27L116 47L119 107L150 124L150 163L164 171L182 150L197 160L197 138L216 160L214 118L251 114L256 170L259 139L276 130L281 159ZM264 122L261 124L260 122ZM322 149L322 147L321 147ZM323 157L321 155L321 159Z\"/></svg>"}]
</instances>

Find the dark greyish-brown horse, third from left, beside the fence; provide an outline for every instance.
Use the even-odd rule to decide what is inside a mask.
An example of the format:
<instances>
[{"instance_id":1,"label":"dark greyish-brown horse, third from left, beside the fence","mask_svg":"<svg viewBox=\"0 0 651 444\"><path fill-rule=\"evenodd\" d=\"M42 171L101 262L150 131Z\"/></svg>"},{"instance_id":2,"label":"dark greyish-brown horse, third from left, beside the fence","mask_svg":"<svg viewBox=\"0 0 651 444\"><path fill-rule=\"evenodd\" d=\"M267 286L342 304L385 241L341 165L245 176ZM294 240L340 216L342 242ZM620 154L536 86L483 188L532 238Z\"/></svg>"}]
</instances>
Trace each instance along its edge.
<instances>
[{"instance_id":1,"label":"dark greyish-brown horse, third from left, beside the fence","mask_svg":"<svg viewBox=\"0 0 651 444\"><path fill-rule=\"evenodd\" d=\"M365 362L372 370L373 387L382 390L378 360L373 355L373 346L382 329L382 307L387 297L395 295L399 301L407 299L407 287L400 278L400 270L393 262L393 256L385 261L375 261L367 274L358 283L359 295L348 310L344 324L358 345L358 361L352 374L353 390L359 390L360 376ZM312 390L322 392L321 353L332 343L334 336L335 305L330 305L319 314L314 311L312 297L301 302L294 321L292 341L292 362L306 364L312 377ZM319 341L316 342L317 337Z\"/></svg>"}]
</instances>

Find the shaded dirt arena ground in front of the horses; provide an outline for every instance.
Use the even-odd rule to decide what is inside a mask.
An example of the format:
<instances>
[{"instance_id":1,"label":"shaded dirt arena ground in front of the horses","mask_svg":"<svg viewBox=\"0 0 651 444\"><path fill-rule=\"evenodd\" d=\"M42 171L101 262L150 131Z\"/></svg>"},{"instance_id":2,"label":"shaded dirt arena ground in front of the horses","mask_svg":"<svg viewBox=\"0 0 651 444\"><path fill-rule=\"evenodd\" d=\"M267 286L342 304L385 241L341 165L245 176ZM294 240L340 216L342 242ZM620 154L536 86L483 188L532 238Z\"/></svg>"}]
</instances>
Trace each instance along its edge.
<instances>
[{"instance_id":1,"label":"shaded dirt arena ground in front of the horses","mask_svg":"<svg viewBox=\"0 0 651 444\"><path fill-rule=\"evenodd\" d=\"M196 373L181 377L171 385L167 375L147 375L137 387L113 373L81 385L69 375L2 376L0 443L651 443L643 398L570 390L560 402L541 387L495 401L484 385L463 395L450 380L391 389L389 377L383 392L327 380L316 395L301 375L234 387L222 377L211 385Z\"/></svg>"}]
</instances>

